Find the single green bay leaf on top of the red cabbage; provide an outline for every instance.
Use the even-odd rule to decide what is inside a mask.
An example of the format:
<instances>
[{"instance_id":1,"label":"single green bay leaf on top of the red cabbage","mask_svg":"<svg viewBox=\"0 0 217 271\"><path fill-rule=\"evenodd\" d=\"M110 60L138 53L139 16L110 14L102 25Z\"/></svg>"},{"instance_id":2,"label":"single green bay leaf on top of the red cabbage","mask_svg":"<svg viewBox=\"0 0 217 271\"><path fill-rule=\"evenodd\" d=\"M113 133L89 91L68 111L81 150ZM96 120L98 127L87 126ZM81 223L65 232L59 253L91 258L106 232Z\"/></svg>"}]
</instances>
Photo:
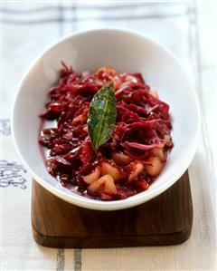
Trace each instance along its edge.
<instances>
[{"instance_id":1,"label":"single green bay leaf on top of the red cabbage","mask_svg":"<svg viewBox=\"0 0 217 271\"><path fill-rule=\"evenodd\" d=\"M94 150L109 140L116 124L116 98L114 84L102 87L90 102L88 130Z\"/></svg>"}]
</instances>

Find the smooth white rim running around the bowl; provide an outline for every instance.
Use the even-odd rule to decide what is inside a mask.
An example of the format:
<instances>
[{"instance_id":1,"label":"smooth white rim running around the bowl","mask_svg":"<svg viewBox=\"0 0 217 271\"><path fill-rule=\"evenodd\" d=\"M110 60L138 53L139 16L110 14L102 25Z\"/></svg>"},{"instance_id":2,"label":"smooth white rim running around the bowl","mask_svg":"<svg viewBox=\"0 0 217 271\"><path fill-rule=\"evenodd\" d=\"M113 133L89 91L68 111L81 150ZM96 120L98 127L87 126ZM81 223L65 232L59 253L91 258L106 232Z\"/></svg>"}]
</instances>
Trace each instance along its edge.
<instances>
[{"instance_id":1,"label":"smooth white rim running around the bowl","mask_svg":"<svg viewBox=\"0 0 217 271\"><path fill-rule=\"evenodd\" d=\"M42 57L46 54L49 53L53 48L57 47L59 44L62 44L68 40L70 40L73 37L78 37L83 34L94 34L94 33L99 33L99 32L116 32L120 34L130 34L130 35L135 35L137 37L142 38L143 40L146 40L148 43L154 44L158 47L160 47L166 54L168 54L174 61L175 63L179 66L180 70L184 73L184 76L186 78L186 81L188 82L190 89L193 92L193 102L195 102L196 106L196 117L197 117L197 131L195 131L195 140L193 141L192 145L192 151L191 155L189 155L185 161L185 164L183 167L180 169L176 170L175 173L171 174L169 178L167 178L166 182L161 184L160 186L156 187L154 190L146 190L146 196L144 195L144 192L141 192L135 196L126 198L126 199L120 199L120 200L111 200L111 201L100 201L96 199L90 199L90 198L85 198L83 196L80 196L79 198L74 198L73 193L67 194L64 191L58 189L57 187L52 186L45 180L43 180L40 176L35 174L33 172L33 169L28 165L28 163L25 161L24 156L22 155L21 151L19 150L18 144L16 143L16 136L15 136L15 131L14 131L14 115L15 115L15 105L16 102L19 98L19 94L22 90L24 80L27 78L28 74L33 70L33 67L36 65L36 63L40 62L42 60ZM30 172L30 175L33 179L35 179L44 189L48 189L52 194L55 196L66 200L70 202L71 204L75 204L77 206L80 206L81 208L90 208L90 209L98 209L98 210L118 210L118 209L124 209L124 208L131 208L134 206L137 206L139 204L142 204L152 198L156 198L159 194L163 193L166 189L171 187L176 180L178 180L185 172L185 170L189 167L191 161L193 160L193 157L195 155L197 145L199 142L199 135L200 135L200 128L201 128L201 116L200 116L200 107L199 107L199 102L198 98L195 92L195 89L193 87L193 82L189 75L184 71L184 68L182 64L177 60L175 55L171 53L171 51L165 47L164 44L159 44L159 42L156 41L153 37L150 35L143 34L137 30L128 30L126 28L116 28L116 27L100 27L100 28L94 28L94 29L89 29L89 30L82 30L82 31L76 31L72 34L68 34L60 39L58 41L52 43L52 45L48 46L45 48L42 53L40 53L33 61L31 65L27 68L27 71L24 73L22 79L20 80L17 88L17 92L15 93L14 97L14 102L13 102L13 111L12 111L12 135L13 135L13 140L14 140L14 146L15 150L19 154L19 157L22 160L22 163L24 164L24 168L27 169L28 172ZM144 197L145 196L145 197Z\"/></svg>"}]
</instances>

